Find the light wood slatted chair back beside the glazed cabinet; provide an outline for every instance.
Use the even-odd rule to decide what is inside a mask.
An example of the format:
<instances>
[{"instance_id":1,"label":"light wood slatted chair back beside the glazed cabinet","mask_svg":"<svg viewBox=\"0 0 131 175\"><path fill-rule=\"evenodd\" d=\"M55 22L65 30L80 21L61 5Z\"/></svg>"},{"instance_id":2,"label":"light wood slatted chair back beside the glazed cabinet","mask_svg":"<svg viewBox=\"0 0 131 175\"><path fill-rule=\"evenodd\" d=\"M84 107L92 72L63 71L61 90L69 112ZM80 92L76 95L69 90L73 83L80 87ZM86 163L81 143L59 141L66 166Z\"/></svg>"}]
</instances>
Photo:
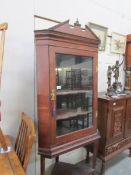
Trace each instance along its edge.
<instances>
[{"instance_id":1,"label":"light wood slatted chair back beside the glazed cabinet","mask_svg":"<svg viewBox=\"0 0 131 175\"><path fill-rule=\"evenodd\" d=\"M33 120L24 112L21 116L21 124L15 143L15 151L21 162L21 165L26 171L29 162L33 143L36 138L35 126Z\"/></svg>"}]
</instances>

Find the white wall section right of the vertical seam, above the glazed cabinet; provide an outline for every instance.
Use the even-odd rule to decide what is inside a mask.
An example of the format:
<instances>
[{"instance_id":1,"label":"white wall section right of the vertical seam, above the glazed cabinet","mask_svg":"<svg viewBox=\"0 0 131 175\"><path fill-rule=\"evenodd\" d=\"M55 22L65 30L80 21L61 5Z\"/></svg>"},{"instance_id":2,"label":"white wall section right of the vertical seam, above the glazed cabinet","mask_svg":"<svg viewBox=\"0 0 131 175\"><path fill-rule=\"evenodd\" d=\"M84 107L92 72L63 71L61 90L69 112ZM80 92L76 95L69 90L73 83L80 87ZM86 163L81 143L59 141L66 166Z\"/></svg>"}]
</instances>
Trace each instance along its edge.
<instances>
[{"instance_id":1,"label":"white wall section right of the vertical seam, above the glazed cabinet","mask_svg":"<svg viewBox=\"0 0 131 175\"><path fill-rule=\"evenodd\" d=\"M118 8L119 4L119 8ZM108 28L108 35L112 32L121 34L129 34L131 30L131 14L129 13L130 1L119 2L116 0L69 0L67 1L35 1L35 14L65 21L70 19L70 23L74 23L76 19L84 26L88 22L93 22ZM45 21L36 20L36 28L46 27ZM107 47L105 52L99 52L99 85L98 91L104 91L107 88L106 70L108 65L113 65L116 60L122 60L122 56L111 54L110 38L107 38ZM104 66L103 66L104 65ZM121 67L122 70L122 67ZM123 79L123 70L120 71L120 80Z\"/></svg>"}]
</instances>

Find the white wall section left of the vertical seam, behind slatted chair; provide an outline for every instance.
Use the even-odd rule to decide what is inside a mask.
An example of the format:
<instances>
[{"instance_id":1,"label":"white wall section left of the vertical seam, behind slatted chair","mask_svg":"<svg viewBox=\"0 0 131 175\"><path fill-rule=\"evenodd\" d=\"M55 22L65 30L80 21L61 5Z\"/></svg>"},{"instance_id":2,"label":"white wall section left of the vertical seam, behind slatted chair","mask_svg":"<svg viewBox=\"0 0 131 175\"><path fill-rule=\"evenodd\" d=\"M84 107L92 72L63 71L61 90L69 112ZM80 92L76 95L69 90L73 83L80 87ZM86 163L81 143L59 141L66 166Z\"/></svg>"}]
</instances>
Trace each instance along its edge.
<instances>
[{"instance_id":1,"label":"white wall section left of the vertical seam, behind slatted chair","mask_svg":"<svg viewBox=\"0 0 131 175\"><path fill-rule=\"evenodd\" d=\"M32 0L2 0L0 5L0 23L8 22L1 84L0 126L14 139L21 112L26 112L34 119L33 14ZM35 175L35 151L28 172Z\"/></svg>"}]
</instances>

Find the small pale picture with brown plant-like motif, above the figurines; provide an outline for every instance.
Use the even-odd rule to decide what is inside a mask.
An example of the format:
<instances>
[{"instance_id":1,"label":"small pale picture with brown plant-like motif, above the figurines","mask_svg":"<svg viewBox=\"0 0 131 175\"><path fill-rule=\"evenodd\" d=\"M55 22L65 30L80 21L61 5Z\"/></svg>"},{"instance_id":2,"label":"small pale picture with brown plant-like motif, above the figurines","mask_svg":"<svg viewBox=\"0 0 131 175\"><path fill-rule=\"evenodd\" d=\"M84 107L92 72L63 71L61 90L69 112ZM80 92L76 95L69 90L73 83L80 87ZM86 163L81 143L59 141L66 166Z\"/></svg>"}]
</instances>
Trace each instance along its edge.
<instances>
[{"instance_id":1,"label":"small pale picture with brown plant-like motif, above the figurines","mask_svg":"<svg viewBox=\"0 0 131 175\"><path fill-rule=\"evenodd\" d=\"M112 33L111 52L124 54L126 48L126 36L119 33Z\"/></svg>"}]
</instances>

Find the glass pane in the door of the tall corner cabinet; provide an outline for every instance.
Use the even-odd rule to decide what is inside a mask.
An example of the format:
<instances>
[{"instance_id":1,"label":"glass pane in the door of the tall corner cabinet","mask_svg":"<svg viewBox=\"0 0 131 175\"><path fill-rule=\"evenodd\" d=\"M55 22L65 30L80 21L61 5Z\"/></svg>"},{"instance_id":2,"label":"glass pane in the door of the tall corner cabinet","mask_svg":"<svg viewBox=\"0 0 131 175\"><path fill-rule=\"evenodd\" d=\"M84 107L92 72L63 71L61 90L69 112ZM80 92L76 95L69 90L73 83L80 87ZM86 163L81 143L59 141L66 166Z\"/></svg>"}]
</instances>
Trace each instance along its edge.
<instances>
[{"instance_id":1,"label":"glass pane in the door of the tall corner cabinet","mask_svg":"<svg viewBox=\"0 0 131 175\"><path fill-rule=\"evenodd\" d=\"M92 58L56 54L56 132L92 126Z\"/></svg>"}]
</instances>

